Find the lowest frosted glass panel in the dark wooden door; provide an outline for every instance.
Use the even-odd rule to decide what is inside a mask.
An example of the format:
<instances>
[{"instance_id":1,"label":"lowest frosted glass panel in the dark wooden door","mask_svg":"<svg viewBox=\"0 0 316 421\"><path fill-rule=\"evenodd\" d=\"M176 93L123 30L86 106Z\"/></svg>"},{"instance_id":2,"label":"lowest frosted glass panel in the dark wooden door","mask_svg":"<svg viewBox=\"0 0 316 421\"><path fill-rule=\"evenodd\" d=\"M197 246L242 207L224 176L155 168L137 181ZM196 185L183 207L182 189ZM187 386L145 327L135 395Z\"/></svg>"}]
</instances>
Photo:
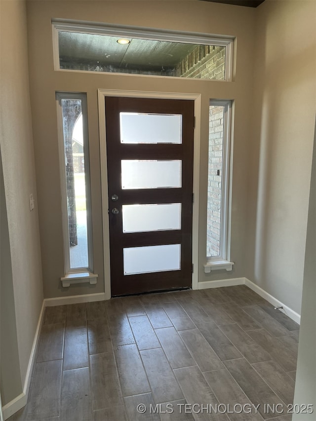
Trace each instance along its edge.
<instances>
[{"instance_id":1,"label":"lowest frosted glass panel in the dark wooden door","mask_svg":"<svg viewBox=\"0 0 316 421\"><path fill-rule=\"evenodd\" d=\"M129 247L123 249L124 275L181 268L181 245Z\"/></svg>"}]
</instances>

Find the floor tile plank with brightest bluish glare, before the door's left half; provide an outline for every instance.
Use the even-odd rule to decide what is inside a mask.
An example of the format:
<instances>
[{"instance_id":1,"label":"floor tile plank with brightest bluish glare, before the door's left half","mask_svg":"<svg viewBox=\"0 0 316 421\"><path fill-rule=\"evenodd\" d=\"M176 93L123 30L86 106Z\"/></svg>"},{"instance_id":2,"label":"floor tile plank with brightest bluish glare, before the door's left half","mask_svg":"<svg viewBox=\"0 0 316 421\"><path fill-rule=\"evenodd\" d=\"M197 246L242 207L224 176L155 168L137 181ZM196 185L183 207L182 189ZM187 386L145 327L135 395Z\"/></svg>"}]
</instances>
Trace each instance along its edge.
<instances>
[{"instance_id":1,"label":"floor tile plank with brightest bluish glare, before the door's left half","mask_svg":"<svg viewBox=\"0 0 316 421\"><path fill-rule=\"evenodd\" d=\"M156 333L147 316L130 317L129 322L139 350L160 347Z\"/></svg>"}]
</instances>

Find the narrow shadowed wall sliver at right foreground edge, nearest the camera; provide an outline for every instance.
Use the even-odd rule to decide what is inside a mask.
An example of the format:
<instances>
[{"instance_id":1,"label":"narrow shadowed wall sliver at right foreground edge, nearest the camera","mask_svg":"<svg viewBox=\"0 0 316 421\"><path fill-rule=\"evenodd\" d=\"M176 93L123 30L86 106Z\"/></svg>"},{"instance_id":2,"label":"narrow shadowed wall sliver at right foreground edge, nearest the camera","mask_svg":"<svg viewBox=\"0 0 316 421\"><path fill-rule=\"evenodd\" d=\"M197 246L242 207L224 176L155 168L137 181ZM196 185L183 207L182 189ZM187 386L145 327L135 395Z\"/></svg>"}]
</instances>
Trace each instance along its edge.
<instances>
[{"instance_id":1,"label":"narrow shadowed wall sliver at right foreground edge, nearest the camera","mask_svg":"<svg viewBox=\"0 0 316 421\"><path fill-rule=\"evenodd\" d=\"M295 414L293 421L315 420L316 408L316 126L308 212L302 298L302 318L295 379L294 404L314 405L313 414Z\"/></svg>"}]
</instances>

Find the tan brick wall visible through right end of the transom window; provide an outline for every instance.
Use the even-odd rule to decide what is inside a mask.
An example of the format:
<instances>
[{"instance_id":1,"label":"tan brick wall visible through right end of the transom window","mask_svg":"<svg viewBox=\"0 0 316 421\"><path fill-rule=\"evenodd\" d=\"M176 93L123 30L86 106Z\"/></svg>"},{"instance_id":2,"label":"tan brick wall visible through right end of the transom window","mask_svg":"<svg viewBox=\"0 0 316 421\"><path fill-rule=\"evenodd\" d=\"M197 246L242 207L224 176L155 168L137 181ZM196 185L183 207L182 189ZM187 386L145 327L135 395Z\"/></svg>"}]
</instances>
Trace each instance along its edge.
<instances>
[{"instance_id":1,"label":"tan brick wall visible through right end of the transom window","mask_svg":"<svg viewBox=\"0 0 316 421\"><path fill-rule=\"evenodd\" d=\"M223 80L225 47L198 45L178 64L174 76Z\"/></svg>"}]
</instances>

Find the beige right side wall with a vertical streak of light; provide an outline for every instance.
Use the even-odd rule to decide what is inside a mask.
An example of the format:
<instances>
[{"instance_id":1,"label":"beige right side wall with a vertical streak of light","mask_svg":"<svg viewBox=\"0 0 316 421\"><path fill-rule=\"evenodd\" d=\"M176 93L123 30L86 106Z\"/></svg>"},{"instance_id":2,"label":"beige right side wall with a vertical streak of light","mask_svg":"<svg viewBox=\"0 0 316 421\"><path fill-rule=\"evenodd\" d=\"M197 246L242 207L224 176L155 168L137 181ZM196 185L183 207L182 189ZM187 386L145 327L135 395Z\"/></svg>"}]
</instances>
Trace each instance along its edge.
<instances>
[{"instance_id":1,"label":"beige right side wall with a vertical streak of light","mask_svg":"<svg viewBox=\"0 0 316 421\"><path fill-rule=\"evenodd\" d=\"M316 102L316 2L256 9L247 278L300 313Z\"/></svg>"}]
</instances>

